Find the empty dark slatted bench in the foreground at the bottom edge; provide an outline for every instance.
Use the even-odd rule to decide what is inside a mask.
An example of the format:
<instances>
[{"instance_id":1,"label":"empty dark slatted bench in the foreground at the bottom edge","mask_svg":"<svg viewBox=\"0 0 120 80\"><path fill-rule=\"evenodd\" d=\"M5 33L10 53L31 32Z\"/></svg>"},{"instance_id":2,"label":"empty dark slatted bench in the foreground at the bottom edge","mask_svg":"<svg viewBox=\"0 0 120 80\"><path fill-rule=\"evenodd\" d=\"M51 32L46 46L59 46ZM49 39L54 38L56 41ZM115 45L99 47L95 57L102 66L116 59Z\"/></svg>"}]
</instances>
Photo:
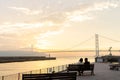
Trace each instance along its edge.
<instances>
[{"instance_id":1,"label":"empty dark slatted bench in the foreground at the bottom edge","mask_svg":"<svg viewBox=\"0 0 120 80\"><path fill-rule=\"evenodd\" d=\"M22 80L76 80L76 72L23 74Z\"/></svg>"}]
</instances>

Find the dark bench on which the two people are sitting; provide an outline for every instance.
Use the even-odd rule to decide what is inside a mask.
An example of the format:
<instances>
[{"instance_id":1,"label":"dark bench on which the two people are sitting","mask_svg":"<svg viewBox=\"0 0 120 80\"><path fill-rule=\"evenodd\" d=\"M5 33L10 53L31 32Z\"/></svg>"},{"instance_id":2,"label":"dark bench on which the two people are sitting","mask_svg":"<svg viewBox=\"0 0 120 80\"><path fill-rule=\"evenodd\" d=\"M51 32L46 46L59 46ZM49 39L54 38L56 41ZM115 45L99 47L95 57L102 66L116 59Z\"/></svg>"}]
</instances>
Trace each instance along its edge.
<instances>
[{"instance_id":1,"label":"dark bench on which the two people are sitting","mask_svg":"<svg viewBox=\"0 0 120 80\"><path fill-rule=\"evenodd\" d=\"M77 71L79 75L83 75L84 71L91 71L91 75L94 75L94 64L84 65L84 64L69 64L67 67L67 72Z\"/></svg>"}]
</instances>

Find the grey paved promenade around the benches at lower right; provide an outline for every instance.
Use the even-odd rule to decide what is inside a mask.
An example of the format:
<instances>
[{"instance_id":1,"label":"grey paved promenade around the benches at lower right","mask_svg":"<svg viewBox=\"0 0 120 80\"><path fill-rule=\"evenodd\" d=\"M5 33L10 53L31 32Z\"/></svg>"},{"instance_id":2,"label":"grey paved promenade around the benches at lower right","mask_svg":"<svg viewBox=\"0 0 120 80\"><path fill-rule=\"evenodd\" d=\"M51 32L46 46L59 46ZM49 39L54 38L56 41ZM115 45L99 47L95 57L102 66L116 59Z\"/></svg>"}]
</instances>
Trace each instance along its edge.
<instances>
[{"instance_id":1,"label":"grey paved promenade around the benches at lower right","mask_svg":"<svg viewBox=\"0 0 120 80\"><path fill-rule=\"evenodd\" d=\"M95 63L95 75L85 72L83 76L77 76L77 80L120 80L120 70L110 70L109 63Z\"/></svg>"}]
</instances>

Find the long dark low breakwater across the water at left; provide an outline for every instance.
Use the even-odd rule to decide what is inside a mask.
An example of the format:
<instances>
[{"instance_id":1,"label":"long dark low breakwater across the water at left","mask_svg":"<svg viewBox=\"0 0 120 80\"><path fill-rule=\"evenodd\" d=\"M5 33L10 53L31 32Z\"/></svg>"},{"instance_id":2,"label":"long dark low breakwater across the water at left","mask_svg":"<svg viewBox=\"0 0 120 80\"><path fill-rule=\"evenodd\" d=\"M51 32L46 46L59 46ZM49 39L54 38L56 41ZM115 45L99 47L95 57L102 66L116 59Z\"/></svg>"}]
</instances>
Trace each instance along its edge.
<instances>
[{"instance_id":1,"label":"long dark low breakwater across the water at left","mask_svg":"<svg viewBox=\"0 0 120 80\"><path fill-rule=\"evenodd\" d=\"M56 57L45 56L3 56L0 57L0 63L39 61L39 60L56 60Z\"/></svg>"}]
</instances>

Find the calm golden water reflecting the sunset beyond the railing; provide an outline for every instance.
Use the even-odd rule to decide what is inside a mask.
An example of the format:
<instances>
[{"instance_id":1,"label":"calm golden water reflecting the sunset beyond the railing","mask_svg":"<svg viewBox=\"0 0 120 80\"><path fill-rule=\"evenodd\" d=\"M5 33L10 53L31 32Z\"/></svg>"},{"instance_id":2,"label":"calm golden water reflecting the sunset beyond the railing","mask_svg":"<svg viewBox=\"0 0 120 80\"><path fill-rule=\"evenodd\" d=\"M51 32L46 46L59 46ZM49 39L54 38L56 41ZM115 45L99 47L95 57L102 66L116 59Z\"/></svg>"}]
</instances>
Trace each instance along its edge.
<instances>
[{"instance_id":1,"label":"calm golden water reflecting the sunset beyond the railing","mask_svg":"<svg viewBox=\"0 0 120 80\"><path fill-rule=\"evenodd\" d=\"M64 57L62 56L63 54ZM27 62L14 62L14 63L1 63L0 64L0 75L10 75L19 72L26 72L31 70L43 69L58 65L64 65L69 63L78 62L79 58L82 56L88 57L89 61L94 62L94 53L51 53L51 55L56 56L56 60L45 60L45 61L27 61ZM69 55L69 57L67 56ZM90 57L91 56L91 57Z\"/></svg>"}]
</instances>

